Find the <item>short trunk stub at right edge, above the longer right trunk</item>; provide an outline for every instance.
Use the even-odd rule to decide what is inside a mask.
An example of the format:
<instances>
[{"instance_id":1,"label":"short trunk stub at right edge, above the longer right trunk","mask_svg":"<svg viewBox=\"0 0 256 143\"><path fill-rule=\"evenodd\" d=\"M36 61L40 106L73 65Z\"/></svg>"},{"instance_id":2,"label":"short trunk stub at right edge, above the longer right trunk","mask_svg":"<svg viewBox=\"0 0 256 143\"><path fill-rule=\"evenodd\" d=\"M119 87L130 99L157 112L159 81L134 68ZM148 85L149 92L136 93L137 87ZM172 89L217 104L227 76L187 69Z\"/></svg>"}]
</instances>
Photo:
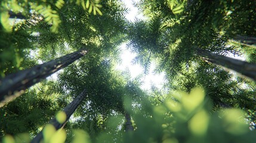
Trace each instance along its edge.
<instances>
[{"instance_id":1,"label":"short trunk stub at right edge, above the longer right trunk","mask_svg":"<svg viewBox=\"0 0 256 143\"><path fill-rule=\"evenodd\" d=\"M256 48L256 38L254 38L254 37L236 35L236 37L233 38L232 40L235 42L239 42L242 45L251 46L252 48Z\"/></svg>"}]
</instances>

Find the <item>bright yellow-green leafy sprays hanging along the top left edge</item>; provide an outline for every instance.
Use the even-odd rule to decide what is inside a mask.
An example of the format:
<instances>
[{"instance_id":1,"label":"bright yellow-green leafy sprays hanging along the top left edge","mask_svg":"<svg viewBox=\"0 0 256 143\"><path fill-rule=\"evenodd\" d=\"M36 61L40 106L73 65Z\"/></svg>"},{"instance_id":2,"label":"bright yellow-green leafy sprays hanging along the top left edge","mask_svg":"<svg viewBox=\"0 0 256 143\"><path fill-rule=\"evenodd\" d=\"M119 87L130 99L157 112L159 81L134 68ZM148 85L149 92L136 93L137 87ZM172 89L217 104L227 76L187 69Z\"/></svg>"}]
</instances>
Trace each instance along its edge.
<instances>
[{"instance_id":1,"label":"bright yellow-green leafy sprays hanging along the top left edge","mask_svg":"<svg viewBox=\"0 0 256 143\"><path fill-rule=\"evenodd\" d=\"M71 1L72 2L72 1ZM2 1L1 3L1 24L7 32L11 32L10 21L8 20L8 11L13 11L14 13L30 14L39 13L44 17L44 20L51 25L51 31L54 33L58 32L58 27L61 23L60 13L63 11L66 5L69 5L69 1L57 0L57 1ZM81 5L84 10L88 9L88 13L93 11L93 14L97 13L103 15L100 11L102 7L99 0L90 1L87 0L85 6L85 0L77 0L75 2L77 5ZM24 8L26 7L26 8ZM64 8L63 8L64 7ZM65 11L65 10L64 10Z\"/></svg>"}]
</instances>

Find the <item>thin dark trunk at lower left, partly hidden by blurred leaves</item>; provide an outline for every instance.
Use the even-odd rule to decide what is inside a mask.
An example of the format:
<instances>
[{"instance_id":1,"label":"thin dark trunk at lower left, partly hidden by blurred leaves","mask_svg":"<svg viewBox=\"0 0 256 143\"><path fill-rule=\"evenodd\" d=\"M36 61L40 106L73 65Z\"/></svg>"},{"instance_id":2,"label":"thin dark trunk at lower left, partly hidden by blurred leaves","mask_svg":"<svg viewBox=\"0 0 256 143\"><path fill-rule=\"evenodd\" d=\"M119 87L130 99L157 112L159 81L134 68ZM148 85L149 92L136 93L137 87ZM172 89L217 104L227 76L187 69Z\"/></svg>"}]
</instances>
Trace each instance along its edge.
<instances>
[{"instance_id":1,"label":"thin dark trunk at lower left, partly hidden by blurred leaves","mask_svg":"<svg viewBox=\"0 0 256 143\"><path fill-rule=\"evenodd\" d=\"M64 108L63 111L64 113L66 113L66 120L64 123L59 123L55 117L54 119L51 119L49 123L53 125L56 130L63 128L64 125L66 125L66 122L69 120L70 116L75 112L76 108L78 108L78 105L81 104L81 102L84 100L85 94L86 89L84 89L84 91L80 95L78 95L75 100L73 100L69 105ZM41 142L41 140L44 138L42 130L38 133L38 135L36 135L35 138L33 138L32 143Z\"/></svg>"}]
</instances>

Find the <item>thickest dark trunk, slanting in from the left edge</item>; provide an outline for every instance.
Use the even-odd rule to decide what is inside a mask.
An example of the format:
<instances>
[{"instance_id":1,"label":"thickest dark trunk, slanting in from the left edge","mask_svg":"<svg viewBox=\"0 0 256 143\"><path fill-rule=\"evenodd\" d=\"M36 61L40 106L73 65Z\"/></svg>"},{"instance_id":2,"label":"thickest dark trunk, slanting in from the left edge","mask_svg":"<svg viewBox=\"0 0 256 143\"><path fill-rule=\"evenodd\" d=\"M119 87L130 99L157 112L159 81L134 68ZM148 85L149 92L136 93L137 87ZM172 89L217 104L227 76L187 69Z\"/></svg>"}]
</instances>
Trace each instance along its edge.
<instances>
[{"instance_id":1,"label":"thickest dark trunk, slanting in from the left edge","mask_svg":"<svg viewBox=\"0 0 256 143\"><path fill-rule=\"evenodd\" d=\"M56 71L63 69L86 53L87 51L85 49L80 49L72 54L64 55L63 57L56 58L55 60L48 61L47 63L40 64L30 69L9 74L4 79L1 79L0 107L23 94L25 89L35 85L35 83L40 82Z\"/></svg>"}]
</instances>

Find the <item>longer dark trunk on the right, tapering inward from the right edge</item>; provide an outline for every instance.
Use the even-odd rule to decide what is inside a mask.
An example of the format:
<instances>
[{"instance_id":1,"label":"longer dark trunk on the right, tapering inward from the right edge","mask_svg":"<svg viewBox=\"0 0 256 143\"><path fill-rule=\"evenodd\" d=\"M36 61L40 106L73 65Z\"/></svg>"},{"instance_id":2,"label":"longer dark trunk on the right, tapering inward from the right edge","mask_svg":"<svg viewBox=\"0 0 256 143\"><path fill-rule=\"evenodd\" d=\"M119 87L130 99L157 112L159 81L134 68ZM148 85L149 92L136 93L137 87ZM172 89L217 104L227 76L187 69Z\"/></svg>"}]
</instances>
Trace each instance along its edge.
<instances>
[{"instance_id":1,"label":"longer dark trunk on the right, tapering inward from the right edge","mask_svg":"<svg viewBox=\"0 0 256 143\"><path fill-rule=\"evenodd\" d=\"M223 55L217 55L200 48L196 49L196 54L203 57L205 61L226 67L227 69L234 70L243 76L256 80L256 64L236 60L234 58L225 57Z\"/></svg>"}]
</instances>

